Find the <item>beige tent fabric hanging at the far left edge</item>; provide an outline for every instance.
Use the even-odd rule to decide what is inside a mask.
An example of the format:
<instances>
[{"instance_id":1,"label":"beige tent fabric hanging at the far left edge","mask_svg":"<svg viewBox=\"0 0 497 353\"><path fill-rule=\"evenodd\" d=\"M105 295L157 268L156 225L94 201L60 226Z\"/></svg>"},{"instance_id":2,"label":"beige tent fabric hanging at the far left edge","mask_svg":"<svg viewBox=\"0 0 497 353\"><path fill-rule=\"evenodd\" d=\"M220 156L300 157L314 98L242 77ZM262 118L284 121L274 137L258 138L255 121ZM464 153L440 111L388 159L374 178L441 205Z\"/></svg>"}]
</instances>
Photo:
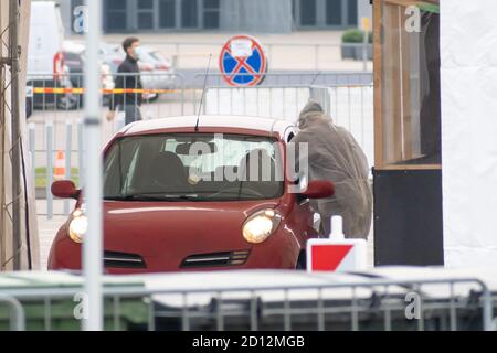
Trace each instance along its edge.
<instances>
[{"instance_id":1,"label":"beige tent fabric hanging at the far left edge","mask_svg":"<svg viewBox=\"0 0 497 353\"><path fill-rule=\"evenodd\" d=\"M34 200L34 181L31 180L30 159L28 156L27 145L27 125L25 125L25 107L24 107L24 92L25 92L25 67L28 63L28 41L29 41L29 23L30 23L30 1L21 1L20 3L20 26L19 40L21 44L21 60L19 73L20 85L20 124L21 124L21 143L24 157L27 190L23 189L20 195L21 200L21 269L38 269L40 263L39 256L39 238L36 227L36 211ZM0 45L0 55L8 56L9 47L9 32L4 31L9 24L9 1L0 2L0 32L2 34L2 44ZM4 32L3 32L4 31ZM12 169L10 151L12 148L11 140L11 116L9 111L11 89L9 82L10 67L1 66L0 68L0 271L12 270L12 256L14 249L12 248ZM21 181L23 185L24 180ZM25 202L28 200L28 202ZM28 220L27 220L28 217ZM28 222L27 222L28 221ZM28 238L29 236L29 238ZM28 244L30 244L28 248ZM29 255L31 261L29 261ZM31 263L31 265L30 265Z\"/></svg>"}]
</instances>

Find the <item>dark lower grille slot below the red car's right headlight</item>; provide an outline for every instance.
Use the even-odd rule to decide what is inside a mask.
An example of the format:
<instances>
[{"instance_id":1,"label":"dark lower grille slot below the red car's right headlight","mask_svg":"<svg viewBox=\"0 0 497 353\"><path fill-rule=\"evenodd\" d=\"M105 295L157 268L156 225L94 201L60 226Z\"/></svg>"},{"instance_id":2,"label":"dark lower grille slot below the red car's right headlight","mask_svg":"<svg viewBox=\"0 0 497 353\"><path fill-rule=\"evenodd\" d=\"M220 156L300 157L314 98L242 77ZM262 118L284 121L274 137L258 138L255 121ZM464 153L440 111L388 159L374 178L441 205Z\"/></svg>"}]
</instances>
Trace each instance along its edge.
<instances>
[{"instance_id":1,"label":"dark lower grille slot below the red car's right headlight","mask_svg":"<svg viewBox=\"0 0 497 353\"><path fill-rule=\"evenodd\" d=\"M246 263L250 250L235 250L211 254L194 254L184 258L180 268L237 266Z\"/></svg>"}]
</instances>

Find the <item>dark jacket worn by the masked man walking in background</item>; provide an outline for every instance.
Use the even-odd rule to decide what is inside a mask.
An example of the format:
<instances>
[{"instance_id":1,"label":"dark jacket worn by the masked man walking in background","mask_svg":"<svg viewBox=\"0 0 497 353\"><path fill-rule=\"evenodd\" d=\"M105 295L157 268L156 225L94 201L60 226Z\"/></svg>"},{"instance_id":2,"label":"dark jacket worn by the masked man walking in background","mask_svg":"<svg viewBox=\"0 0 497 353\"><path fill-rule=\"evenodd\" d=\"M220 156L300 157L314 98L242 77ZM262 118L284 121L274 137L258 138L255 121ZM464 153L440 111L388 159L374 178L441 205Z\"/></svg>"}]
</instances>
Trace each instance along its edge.
<instances>
[{"instance_id":1,"label":"dark jacket worn by the masked man walking in background","mask_svg":"<svg viewBox=\"0 0 497 353\"><path fill-rule=\"evenodd\" d=\"M125 74L125 75L119 75ZM130 75L135 74L135 75ZM137 88L141 89L140 69L138 63L135 58L126 55L126 58L120 63L117 68L116 76L116 88ZM114 99L110 100L110 109L116 109L117 106L124 107L129 105L141 105L141 94L140 93L125 93L115 94Z\"/></svg>"}]
</instances>

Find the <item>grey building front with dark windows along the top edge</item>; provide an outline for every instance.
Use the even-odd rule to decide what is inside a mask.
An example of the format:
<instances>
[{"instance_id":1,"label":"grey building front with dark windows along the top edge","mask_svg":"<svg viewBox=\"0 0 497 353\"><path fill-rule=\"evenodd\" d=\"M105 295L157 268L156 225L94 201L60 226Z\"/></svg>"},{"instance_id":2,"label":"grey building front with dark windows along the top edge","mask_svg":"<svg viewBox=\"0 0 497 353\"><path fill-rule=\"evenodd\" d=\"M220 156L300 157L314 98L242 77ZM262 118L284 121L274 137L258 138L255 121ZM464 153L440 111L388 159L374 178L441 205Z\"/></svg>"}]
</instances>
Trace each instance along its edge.
<instances>
[{"instance_id":1,"label":"grey building front with dark windows along the top edge","mask_svg":"<svg viewBox=\"0 0 497 353\"><path fill-rule=\"evenodd\" d=\"M67 33L84 0L57 0ZM103 0L105 33L341 30L370 17L370 0Z\"/></svg>"}]
</instances>

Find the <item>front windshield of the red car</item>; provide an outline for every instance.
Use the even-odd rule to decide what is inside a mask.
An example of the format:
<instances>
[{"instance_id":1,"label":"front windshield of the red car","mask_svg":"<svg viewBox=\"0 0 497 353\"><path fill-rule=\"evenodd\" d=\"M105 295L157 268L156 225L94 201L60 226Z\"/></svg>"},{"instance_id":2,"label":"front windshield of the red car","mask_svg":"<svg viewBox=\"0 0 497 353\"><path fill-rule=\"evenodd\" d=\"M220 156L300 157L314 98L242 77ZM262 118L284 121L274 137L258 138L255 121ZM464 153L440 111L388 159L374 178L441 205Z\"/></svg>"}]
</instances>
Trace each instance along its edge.
<instances>
[{"instance_id":1,"label":"front windshield of the red car","mask_svg":"<svg viewBox=\"0 0 497 353\"><path fill-rule=\"evenodd\" d=\"M221 133L126 137L109 149L104 199L237 201L283 194L276 139Z\"/></svg>"}]
</instances>

